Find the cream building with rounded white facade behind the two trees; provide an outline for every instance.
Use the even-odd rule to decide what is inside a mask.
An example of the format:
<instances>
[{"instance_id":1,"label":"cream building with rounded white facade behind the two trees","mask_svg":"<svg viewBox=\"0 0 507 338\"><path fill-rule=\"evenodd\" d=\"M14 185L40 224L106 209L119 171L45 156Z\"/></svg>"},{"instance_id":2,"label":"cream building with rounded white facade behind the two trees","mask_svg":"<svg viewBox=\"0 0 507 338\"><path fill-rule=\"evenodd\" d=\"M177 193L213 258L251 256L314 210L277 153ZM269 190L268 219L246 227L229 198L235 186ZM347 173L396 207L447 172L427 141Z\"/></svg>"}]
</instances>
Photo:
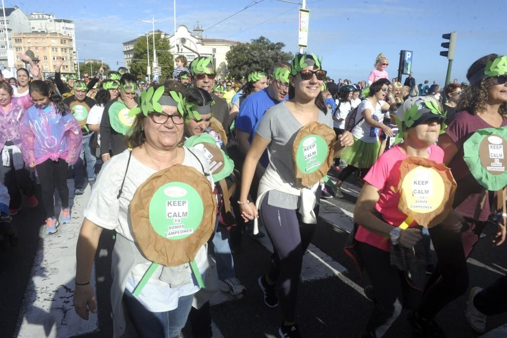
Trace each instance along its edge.
<instances>
[{"instance_id":1,"label":"cream building with rounded white facade behind the two trees","mask_svg":"<svg viewBox=\"0 0 507 338\"><path fill-rule=\"evenodd\" d=\"M232 46L237 45L236 41L224 39L203 39L201 28L197 27L193 30L193 32L191 32L185 25L179 26L176 29L175 35L167 35L166 33L157 30L155 32L163 33L164 37L169 39L169 52L175 58L176 56L183 55L190 63L199 55L208 56L213 59L217 75L222 78L227 75L228 70L225 55ZM150 31L149 34L151 35L152 32ZM144 39L143 41L146 42L146 36L143 36L123 43L123 58L127 67L129 67L130 62L132 61L134 45L139 39ZM151 45L149 51L150 63L152 63L153 51Z\"/></svg>"}]
</instances>

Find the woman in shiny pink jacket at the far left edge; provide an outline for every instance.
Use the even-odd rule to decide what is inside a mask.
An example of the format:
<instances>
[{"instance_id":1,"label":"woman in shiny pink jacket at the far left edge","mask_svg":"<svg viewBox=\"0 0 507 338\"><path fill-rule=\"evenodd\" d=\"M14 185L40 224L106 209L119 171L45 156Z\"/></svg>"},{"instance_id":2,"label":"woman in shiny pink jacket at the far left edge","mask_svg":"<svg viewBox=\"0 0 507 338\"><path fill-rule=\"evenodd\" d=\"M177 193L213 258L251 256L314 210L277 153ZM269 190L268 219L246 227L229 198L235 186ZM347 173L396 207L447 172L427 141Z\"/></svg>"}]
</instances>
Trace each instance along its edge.
<instances>
[{"instance_id":1,"label":"woman in shiny pink jacket at the far left edge","mask_svg":"<svg viewBox=\"0 0 507 338\"><path fill-rule=\"evenodd\" d=\"M11 196L9 214L16 215L21 210L21 193L27 196L31 208L39 202L35 197L35 186L26 170L21 153L21 120L26 111L12 100L13 89L0 81L0 182Z\"/></svg>"}]
</instances>

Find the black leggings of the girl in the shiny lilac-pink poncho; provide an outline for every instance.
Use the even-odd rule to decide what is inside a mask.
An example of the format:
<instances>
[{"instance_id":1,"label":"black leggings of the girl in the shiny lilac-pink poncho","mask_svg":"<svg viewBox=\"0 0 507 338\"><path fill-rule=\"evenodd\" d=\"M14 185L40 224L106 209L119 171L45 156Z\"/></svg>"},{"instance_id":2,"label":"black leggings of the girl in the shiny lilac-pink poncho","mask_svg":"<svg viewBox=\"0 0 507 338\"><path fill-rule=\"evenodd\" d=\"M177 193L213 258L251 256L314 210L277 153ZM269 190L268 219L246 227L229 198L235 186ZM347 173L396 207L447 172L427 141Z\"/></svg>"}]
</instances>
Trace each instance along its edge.
<instances>
[{"instance_id":1,"label":"black leggings of the girl in the shiny lilac-pink poncho","mask_svg":"<svg viewBox=\"0 0 507 338\"><path fill-rule=\"evenodd\" d=\"M62 208L68 208L67 169L68 163L61 158L58 161L48 159L41 164L37 164L46 218L55 216L55 202L53 199L55 187L60 195Z\"/></svg>"}]
</instances>

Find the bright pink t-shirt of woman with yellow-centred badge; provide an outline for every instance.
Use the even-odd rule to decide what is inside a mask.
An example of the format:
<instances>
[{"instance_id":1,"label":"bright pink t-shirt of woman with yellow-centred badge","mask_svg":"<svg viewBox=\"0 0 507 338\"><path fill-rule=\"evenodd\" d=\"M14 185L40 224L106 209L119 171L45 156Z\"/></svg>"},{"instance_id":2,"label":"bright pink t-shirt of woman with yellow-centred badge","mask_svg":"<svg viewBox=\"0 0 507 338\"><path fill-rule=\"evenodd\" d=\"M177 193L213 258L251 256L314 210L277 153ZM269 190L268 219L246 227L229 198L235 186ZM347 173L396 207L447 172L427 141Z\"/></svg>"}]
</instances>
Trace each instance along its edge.
<instances>
[{"instance_id":1,"label":"bright pink t-shirt of woman with yellow-centred badge","mask_svg":"<svg viewBox=\"0 0 507 338\"><path fill-rule=\"evenodd\" d=\"M444 151L439 146L429 146L428 153L428 159L437 163L444 161ZM380 198L375 204L375 209L382 214L385 222L395 227L402 224L407 216L398 209L400 193L393 192L391 187L397 188L400 183L400 164L407 157L400 149L400 146L394 146L378 158L365 177L366 182L380 190ZM414 222L410 226L416 225ZM389 242L385 240L384 236L373 233L361 225L357 228L355 239L381 250L389 251Z\"/></svg>"}]
</instances>

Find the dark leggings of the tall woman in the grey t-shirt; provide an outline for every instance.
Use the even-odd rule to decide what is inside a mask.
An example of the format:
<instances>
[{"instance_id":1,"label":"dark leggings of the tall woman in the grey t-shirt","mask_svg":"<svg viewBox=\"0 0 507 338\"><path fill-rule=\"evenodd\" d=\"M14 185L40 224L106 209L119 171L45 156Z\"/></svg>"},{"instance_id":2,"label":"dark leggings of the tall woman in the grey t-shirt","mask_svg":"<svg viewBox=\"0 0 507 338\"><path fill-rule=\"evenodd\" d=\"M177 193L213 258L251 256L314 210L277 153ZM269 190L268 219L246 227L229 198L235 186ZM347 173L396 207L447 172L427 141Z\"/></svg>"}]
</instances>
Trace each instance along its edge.
<instances>
[{"instance_id":1,"label":"dark leggings of the tall woman in the grey t-shirt","mask_svg":"<svg viewBox=\"0 0 507 338\"><path fill-rule=\"evenodd\" d=\"M320 192L317 199L319 195ZM302 223L297 210L268 205L268 196L269 192L262 200L259 217L274 250L267 275L271 281L276 281L283 320L294 322L303 254L310 245L317 224ZM318 205L315 215L318 215Z\"/></svg>"}]
</instances>

